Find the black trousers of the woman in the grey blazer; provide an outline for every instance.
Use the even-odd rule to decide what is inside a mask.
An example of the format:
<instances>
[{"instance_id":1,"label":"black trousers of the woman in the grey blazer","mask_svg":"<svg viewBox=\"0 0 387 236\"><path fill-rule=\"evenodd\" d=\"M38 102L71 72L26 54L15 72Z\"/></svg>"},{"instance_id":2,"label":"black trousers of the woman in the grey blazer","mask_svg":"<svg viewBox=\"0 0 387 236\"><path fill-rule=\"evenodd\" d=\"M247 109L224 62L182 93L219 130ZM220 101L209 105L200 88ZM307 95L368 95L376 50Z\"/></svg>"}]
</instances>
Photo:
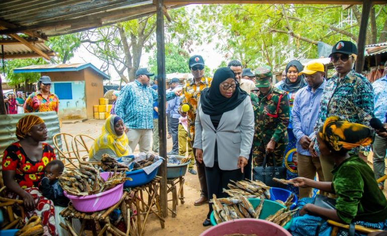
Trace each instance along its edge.
<instances>
[{"instance_id":1,"label":"black trousers of the woman in the grey blazer","mask_svg":"<svg viewBox=\"0 0 387 236\"><path fill-rule=\"evenodd\" d=\"M228 189L227 184L230 183L230 180L239 181L242 180L244 174L240 169L236 170L221 170L219 168L218 162L214 162L214 167L205 167L206 171L206 180L207 180L207 190L208 190L208 199L212 199L212 195L215 194L216 197L228 197L227 193L223 192L223 189ZM208 203L209 212L207 218L210 218L210 214L213 211L212 203Z\"/></svg>"}]
</instances>

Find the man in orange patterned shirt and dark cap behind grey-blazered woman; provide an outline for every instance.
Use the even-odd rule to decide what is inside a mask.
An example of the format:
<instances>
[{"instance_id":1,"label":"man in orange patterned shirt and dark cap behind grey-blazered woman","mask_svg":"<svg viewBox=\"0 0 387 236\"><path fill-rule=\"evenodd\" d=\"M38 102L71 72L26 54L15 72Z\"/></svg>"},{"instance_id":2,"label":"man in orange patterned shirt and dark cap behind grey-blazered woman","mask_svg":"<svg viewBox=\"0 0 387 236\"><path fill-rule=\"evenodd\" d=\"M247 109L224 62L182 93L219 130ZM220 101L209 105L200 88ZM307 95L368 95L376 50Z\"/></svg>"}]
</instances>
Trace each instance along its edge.
<instances>
[{"instance_id":1,"label":"man in orange patterned shirt and dark cap behind grey-blazered woman","mask_svg":"<svg viewBox=\"0 0 387 236\"><path fill-rule=\"evenodd\" d=\"M193 79L185 84L183 87L182 100L180 102L179 111L181 112L181 106L183 104L189 105L189 110L186 112L187 121L188 121L188 142L191 142L193 146L193 141L195 140L195 118L196 118L196 109L198 106L198 101L200 98L200 93L203 89L210 87L212 78L204 76L204 60L201 55L193 55L189 58L188 67L191 70ZM185 114L184 114L185 115ZM192 148L193 153L196 153L196 150ZM206 172L204 163L196 162L196 167L198 169L198 176L200 182L200 198L195 201L195 205L199 206L207 202L208 192L207 192L207 182L206 182ZM194 172L190 172L191 174Z\"/></svg>"}]
</instances>

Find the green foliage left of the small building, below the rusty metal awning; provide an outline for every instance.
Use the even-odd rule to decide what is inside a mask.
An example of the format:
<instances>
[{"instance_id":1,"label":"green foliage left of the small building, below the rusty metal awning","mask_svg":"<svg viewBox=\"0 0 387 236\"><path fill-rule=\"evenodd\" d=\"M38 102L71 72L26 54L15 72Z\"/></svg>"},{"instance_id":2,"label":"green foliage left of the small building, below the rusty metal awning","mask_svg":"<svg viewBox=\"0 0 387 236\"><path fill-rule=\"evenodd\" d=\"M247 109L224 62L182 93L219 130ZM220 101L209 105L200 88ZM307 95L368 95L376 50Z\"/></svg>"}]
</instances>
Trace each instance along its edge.
<instances>
[{"instance_id":1,"label":"green foliage left of the small building, below the rusty metal awning","mask_svg":"<svg viewBox=\"0 0 387 236\"><path fill-rule=\"evenodd\" d=\"M14 69L31 66L48 64L42 58L27 58L27 59L13 59L5 61L6 77L10 84L17 85L21 83L33 83L38 81L40 73L14 73ZM3 65L2 65L3 68Z\"/></svg>"}]
</instances>

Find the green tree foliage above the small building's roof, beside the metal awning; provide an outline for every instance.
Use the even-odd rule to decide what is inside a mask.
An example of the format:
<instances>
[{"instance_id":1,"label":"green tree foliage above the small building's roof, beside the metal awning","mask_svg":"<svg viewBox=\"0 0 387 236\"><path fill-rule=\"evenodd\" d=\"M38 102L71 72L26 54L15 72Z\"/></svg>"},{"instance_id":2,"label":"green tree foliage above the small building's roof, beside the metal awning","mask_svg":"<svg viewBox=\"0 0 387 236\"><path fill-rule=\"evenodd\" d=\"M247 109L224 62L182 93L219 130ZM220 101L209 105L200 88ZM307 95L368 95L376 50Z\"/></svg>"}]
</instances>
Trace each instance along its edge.
<instances>
[{"instance_id":1,"label":"green tree foliage above the small building's roof, beside the metal awning","mask_svg":"<svg viewBox=\"0 0 387 236\"><path fill-rule=\"evenodd\" d=\"M57 55L57 59L52 59L54 63L64 64L74 56L74 52L81 45L81 33L50 37L45 42Z\"/></svg>"}]
</instances>

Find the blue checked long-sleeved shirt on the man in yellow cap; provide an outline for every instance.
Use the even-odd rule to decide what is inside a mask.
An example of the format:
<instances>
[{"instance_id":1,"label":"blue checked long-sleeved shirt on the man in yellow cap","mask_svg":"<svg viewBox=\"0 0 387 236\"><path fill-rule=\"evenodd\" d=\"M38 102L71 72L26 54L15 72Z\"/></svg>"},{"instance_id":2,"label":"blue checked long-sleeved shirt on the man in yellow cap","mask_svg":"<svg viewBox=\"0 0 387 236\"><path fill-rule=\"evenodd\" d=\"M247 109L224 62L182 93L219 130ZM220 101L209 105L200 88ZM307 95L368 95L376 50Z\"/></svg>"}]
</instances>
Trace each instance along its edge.
<instances>
[{"instance_id":1,"label":"blue checked long-sleeved shirt on the man in yellow cap","mask_svg":"<svg viewBox=\"0 0 387 236\"><path fill-rule=\"evenodd\" d=\"M300 139L304 136L309 136L313 133L316 121L319 118L320 101L327 80L312 91L311 87L306 86L301 88L295 95L292 109L292 125L293 134L297 138L297 153L305 156L312 156L308 149L303 149L300 144Z\"/></svg>"}]
</instances>

